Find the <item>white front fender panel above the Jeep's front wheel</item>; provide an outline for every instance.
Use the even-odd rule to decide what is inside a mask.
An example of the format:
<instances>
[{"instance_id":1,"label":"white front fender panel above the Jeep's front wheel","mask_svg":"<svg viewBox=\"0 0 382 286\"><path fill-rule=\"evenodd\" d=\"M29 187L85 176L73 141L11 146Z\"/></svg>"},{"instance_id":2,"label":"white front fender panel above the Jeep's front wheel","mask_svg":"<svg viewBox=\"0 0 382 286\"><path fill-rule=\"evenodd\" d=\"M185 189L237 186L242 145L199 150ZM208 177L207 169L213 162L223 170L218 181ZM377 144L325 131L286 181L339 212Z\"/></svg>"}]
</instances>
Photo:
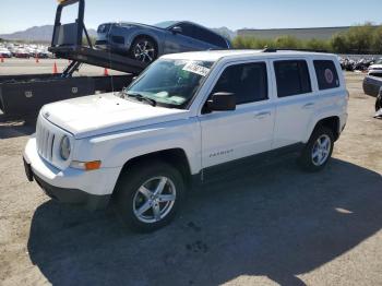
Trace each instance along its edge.
<instances>
[{"instance_id":1,"label":"white front fender panel above the Jeep's front wheel","mask_svg":"<svg viewBox=\"0 0 382 286\"><path fill-rule=\"evenodd\" d=\"M103 168L120 168L141 155L180 148L184 151L191 174L201 169L201 139L196 119L153 124L83 140L76 147L77 160L102 160Z\"/></svg>"}]
</instances>

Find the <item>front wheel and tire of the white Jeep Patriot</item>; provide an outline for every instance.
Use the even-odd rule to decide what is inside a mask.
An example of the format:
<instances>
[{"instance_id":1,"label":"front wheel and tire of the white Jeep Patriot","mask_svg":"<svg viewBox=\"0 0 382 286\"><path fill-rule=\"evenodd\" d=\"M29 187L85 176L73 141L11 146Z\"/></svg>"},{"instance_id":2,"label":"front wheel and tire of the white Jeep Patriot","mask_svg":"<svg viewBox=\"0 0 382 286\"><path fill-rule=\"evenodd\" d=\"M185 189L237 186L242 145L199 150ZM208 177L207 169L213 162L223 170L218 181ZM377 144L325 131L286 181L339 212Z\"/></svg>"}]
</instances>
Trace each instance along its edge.
<instances>
[{"instance_id":1,"label":"front wheel and tire of the white Jeep Patriot","mask_svg":"<svg viewBox=\"0 0 382 286\"><path fill-rule=\"evenodd\" d=\"M155 194L159 184L164 188ZM140 233L151 233L168 225L186 192L183 178L176 168L153 162L132 167L120 178L116 191L117 214L129 228Z\"/></svg>"}]
</instances>

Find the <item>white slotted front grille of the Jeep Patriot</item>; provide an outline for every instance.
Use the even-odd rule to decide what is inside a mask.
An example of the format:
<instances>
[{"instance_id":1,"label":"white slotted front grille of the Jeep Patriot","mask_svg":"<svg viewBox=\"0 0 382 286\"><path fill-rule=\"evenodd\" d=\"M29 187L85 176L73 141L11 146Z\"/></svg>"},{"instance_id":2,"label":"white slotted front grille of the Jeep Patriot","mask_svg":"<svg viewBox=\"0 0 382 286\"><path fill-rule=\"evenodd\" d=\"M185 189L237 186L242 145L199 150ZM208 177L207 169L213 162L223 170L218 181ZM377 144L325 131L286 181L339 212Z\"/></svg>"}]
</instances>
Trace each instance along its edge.
<instances>
[{"instance_id":1,"label":"white slotted front grille of the Jeep Patriot","mask_svg":"<svg viewBox=\"0 0 382 286\"><path fill-rule=\"evenodd\" d=\"M38 154L48 162L53 159L55 133L38 120L36 127L36 140Z\"/></svg>"}]
</instances>

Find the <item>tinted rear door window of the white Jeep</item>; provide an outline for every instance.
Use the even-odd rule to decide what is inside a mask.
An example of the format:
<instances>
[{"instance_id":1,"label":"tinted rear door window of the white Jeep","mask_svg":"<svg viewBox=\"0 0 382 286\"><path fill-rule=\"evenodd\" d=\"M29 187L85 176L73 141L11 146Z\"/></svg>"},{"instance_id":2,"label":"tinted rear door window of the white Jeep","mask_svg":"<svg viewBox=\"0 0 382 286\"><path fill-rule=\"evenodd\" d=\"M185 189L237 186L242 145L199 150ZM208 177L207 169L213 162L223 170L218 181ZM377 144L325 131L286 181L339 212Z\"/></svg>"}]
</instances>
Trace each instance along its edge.
<instances>
[{"instance_id":1,"label":"tinted rear door window of the white Jeep","mask_svg":"<svg viewBox=\"0 0 382 286\"><path fill-rule=\"evenodd\" d=\"M312 91L305 60L275 61L278 97L306 94Z\"/></svg>"}]
</instances>

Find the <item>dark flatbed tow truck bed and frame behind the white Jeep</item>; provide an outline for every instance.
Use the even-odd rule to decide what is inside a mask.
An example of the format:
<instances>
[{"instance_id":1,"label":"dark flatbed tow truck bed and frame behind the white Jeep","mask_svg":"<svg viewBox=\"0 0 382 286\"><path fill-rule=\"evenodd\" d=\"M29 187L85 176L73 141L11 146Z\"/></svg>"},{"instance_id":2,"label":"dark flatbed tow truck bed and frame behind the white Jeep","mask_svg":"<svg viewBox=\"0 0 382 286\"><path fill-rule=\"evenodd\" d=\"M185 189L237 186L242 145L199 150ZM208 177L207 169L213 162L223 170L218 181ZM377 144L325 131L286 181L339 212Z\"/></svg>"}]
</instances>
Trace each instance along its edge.
<instances>
[{"instance_id":1,"label":"dark flatbed tow truck bed and frame behind the white Jeep","mask_svg":"<svg viewBox=\"0 0 382 286\"><path fill-rule=\"evenodd\" d=\"M61 24L62 10L79 4L77 19ZM93 47L84 25L85 0L60 0L49 50L57 58L71 60L60 74L0 76L0 110L5 116L24 117L36 114L48 103L92 95L96 92L121 91L148 64ZM86 39L86 45L83 43ZM123 75L73 76L87 63L126 72Z\"/></svg>"}]
</instances>

